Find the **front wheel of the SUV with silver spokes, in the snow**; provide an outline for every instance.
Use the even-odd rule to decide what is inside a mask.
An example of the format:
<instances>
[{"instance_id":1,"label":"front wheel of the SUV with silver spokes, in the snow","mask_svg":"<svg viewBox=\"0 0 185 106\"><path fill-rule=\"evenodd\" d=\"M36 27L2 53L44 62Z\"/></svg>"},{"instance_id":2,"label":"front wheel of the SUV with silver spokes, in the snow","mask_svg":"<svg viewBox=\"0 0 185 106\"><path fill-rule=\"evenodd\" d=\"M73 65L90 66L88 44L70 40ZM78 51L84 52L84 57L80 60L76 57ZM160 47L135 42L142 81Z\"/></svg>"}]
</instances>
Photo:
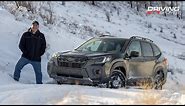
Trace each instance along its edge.
<instances>
[{"instance_id":1,"label":"front wheel of the SUV with silver spokes, in the snow","mask_svg":"<svg viewBox=\"0 0 185 106\"><path fill-rule=\"evenodd\" d=\"M110 88L114 89L125 87L125 75L120 70L113 70L109 85Z\"/></svg>"}]
</instances>

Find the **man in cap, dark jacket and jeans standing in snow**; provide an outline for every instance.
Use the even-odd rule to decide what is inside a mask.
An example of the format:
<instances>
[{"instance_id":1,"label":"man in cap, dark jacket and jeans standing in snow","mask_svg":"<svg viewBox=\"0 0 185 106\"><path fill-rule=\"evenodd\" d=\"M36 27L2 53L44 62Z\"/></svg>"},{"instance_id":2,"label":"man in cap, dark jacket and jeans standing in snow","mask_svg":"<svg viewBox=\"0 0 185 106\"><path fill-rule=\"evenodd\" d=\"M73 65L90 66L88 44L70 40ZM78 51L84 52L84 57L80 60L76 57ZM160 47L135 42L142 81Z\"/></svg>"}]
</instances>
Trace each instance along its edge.
<instances>
[{"instance_id":1,"label":"man in cap, dark jacket and jeans standing in snow","mask_svg":"<svg viewBox=\"0 0 185 106\"><path fill-rule=\"evenodd\" d=\"M44 34L39 31L37 21L33 21L31 28L23 33L19 48L22 56L15 66L14 79L19 81L22 68L31 64L35 71L36 83L42 84L41 56L45 53L46 40Z\"/></svg>"}]
</instances>

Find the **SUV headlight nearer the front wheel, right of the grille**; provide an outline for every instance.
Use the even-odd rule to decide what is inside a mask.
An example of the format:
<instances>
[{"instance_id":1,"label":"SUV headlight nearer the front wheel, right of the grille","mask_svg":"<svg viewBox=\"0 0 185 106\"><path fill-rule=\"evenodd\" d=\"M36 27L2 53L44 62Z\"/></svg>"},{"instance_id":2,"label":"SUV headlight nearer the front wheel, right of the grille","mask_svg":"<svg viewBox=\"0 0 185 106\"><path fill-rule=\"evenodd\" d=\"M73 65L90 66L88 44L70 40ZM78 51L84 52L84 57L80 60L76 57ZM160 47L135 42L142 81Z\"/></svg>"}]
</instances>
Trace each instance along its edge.
<instances>
[{"instance_id":1,"label":"SUV headlight nearer the front wheel, right of the grille","mask_svg":"<svg viewBox=\"0 0 185 106\"><path fill-rule=\"evenodd\" d=\"M95 63L106 63L111 61L112 57L111 56L101 56L101 57L94 57L92 58L95 60Z\"/></svg>"}]
</instances>

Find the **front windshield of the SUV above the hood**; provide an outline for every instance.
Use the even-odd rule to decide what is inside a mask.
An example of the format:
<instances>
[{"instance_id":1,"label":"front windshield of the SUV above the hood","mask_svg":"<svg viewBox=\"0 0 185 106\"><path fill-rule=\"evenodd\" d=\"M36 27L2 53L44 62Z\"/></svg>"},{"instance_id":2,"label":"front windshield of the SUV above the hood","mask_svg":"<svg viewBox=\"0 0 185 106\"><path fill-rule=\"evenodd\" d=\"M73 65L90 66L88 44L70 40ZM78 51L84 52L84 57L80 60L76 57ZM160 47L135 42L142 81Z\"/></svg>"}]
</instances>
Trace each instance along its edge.
<instances>
[{"instance_id":1,"label":"front windshield of the SUV above the hood","mask_svg":"<svg viewBox=\"0 0 185 106\"><path fill-rule=\"evenodd\" d=\"M82 52L121 52L124 43L124 39L94 38L75 50Z\"/></svg>"}]
</instances>

